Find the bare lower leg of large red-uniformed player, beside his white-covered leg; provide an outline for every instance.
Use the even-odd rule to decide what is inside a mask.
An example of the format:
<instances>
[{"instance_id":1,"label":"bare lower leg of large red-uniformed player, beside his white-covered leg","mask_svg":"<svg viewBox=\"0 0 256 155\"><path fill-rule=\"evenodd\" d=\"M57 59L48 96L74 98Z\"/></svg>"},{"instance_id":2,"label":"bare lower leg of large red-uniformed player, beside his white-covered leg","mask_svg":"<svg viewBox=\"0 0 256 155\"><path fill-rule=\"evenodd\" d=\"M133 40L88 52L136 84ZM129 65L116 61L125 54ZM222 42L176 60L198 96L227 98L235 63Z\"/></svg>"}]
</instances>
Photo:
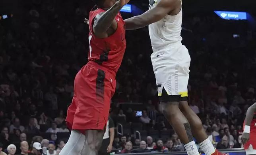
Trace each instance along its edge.
<instances>
[{"instance_id":1,"label":"bare lower leg of large red-uniformed player, beside his white-covered leg","mask_svg":"<svg viewBox=\"0 0 256 155\"><path fill-rule=\"evenodd\" d=\"M104 130L86 130L85 146L81 155L97 155L101 148L104 133Z\"/></svg>"}]
</instances>

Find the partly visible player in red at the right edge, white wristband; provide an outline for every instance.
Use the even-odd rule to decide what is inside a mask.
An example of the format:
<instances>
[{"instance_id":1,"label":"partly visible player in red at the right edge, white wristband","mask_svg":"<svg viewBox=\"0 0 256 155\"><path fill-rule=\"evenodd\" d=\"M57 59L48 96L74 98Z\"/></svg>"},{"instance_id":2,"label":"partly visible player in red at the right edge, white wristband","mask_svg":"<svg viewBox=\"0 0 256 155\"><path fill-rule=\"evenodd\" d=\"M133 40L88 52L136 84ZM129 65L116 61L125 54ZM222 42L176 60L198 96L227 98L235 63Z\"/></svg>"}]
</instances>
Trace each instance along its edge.
<instances>
[{"instance_id":1,"label":"partly visible player in red at the right edge, white wristband","mask_svg":"<svg viewBox=\"0 0 256 155\"><path fill-rule=\"evenodd\" d=\"M248 108L243 129L242 143L246 155L256 155L256 103Z\"/></svg>"}]
</instances>

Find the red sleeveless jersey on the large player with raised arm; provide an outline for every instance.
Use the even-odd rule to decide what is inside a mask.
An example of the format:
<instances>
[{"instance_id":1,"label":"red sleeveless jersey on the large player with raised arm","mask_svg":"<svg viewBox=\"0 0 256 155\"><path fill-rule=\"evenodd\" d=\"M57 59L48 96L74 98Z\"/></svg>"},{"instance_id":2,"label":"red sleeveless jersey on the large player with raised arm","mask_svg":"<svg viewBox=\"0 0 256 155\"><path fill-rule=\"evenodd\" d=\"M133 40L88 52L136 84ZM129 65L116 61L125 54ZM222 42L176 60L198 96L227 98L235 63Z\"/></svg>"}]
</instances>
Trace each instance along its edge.
<instances>
[{"instance_id":1,"label":"red sleeveless jersey on the large player with raised arm","mask_svg":"<svg viewBox=\"0 0 256 155\"><path fill-rule=\"evenodd\" d=\"M89 15L89 61L95 61L106 68L117 72L121 65L126 49L125 40L125 22L120 12L116 15L117 29L111 36L107 38L97 38L93 34L93 21L97 14L105 12L105 10L95 6Z\"/></svg>"}]
</instances>

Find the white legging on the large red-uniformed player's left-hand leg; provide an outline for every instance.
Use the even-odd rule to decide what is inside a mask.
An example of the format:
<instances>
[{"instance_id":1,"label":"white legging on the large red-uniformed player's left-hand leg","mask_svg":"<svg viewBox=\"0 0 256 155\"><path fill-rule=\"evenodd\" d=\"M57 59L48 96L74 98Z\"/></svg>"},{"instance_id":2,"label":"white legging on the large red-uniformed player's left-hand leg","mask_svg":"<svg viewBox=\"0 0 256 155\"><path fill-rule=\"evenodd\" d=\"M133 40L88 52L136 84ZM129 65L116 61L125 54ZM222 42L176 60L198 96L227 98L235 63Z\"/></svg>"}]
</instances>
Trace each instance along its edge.
<instances>
[{"instance_id":1,"label":"white legging on the large red-uniformed player's left-hand leg","mask_svg":"<svg viewBox=\"0 0 256 155\"><path fill-rule=\"evenodd\" d=\"M77 130L71 130L67 144L62 148L59 155L78 155L83 149L85 135Z\"/></svg>"}]
</instances>

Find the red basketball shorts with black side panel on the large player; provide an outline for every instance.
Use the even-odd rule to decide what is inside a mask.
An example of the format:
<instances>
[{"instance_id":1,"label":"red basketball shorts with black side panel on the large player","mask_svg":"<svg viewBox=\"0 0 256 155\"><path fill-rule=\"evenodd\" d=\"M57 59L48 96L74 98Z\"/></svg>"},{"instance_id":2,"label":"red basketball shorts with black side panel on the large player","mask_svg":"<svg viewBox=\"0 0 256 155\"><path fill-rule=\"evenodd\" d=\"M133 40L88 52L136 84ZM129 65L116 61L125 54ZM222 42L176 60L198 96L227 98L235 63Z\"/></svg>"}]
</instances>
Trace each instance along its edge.
<instances>
[{"instance_id":1,"label":"red basketball shorts with black side panel on the large player","mask_svg":"<svg viewBox=\"0 0 256 155\"><path fill-rule=\"evenodd\" d=\"M115 89L113 71L92 61L83 66L74 81L74 97L66 117L68 128L82 133L89 129L103 130Z\"/></svg>"}]
</instances>

